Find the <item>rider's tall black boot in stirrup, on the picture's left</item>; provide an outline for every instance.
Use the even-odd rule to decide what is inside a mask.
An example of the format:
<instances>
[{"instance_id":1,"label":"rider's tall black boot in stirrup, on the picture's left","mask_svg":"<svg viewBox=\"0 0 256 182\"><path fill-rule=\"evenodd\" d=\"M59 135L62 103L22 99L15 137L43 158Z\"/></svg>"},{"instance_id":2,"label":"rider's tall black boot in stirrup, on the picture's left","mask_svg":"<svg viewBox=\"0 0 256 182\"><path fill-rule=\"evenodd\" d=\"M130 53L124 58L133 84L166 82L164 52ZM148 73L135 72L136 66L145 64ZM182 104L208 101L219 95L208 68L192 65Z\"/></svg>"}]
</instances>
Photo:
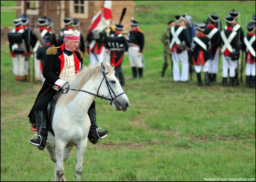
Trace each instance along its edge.
<instances>
[{"instance_id":1,"label":"rider's tall black boot in stirrup, on the picture's left","mask_svg":"<svg viewBox=\"0 0 256 182\"><path fill-rule=\"evenodd\" d=\"M41 151L43 151L45 148L47 136L48 136L46 121L43 120L44 115L45 115L45 111L35 111L36 130L39 136L36 139L32 138L30 140L30 144L37 146L37 148L40 149ZM41 128L40 133L38 133L42 122L43 122L43 126Z\"/></svg>"}]
</instances>

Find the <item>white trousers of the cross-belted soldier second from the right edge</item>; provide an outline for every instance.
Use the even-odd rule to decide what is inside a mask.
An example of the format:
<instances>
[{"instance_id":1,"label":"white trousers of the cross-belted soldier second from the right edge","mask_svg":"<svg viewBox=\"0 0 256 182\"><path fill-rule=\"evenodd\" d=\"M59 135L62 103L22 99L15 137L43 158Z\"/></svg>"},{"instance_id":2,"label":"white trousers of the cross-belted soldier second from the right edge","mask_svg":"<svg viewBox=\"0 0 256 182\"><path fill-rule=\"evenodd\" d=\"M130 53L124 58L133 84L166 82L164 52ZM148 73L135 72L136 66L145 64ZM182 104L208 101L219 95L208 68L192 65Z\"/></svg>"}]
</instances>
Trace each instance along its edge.
<instances>
[{"instance_id":1,"label":"white trousers of the cross-belted soldier second from the right edge","mask_svg":"<svg viewBox=\"0 0 256 182\"><path fill-rule=\"evenodd\" d=\"M227 78L228 77L228 70L229 70L229 77L235 77L236 76L236 67L237 67L237 61L232 61L231 57L226 57L224 54L222 54L222 77Z\"/></svg>"}]
</instances>

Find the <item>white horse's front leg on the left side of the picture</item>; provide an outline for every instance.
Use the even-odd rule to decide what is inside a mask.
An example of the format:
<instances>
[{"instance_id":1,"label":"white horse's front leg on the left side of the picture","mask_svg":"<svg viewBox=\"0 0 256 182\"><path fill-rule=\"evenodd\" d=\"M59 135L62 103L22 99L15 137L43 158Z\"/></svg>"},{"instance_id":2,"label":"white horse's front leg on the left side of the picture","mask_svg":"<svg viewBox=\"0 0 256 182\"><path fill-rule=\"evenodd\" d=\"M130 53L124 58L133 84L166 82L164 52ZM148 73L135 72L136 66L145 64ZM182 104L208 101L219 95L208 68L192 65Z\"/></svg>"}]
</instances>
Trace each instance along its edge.
<instances>
[{"instance_id":1,"label":"white horse's front leg on the left side of the picture","mask_svg":"<svg viewBox=\"0 0 256 182\"><path fill-rule=\"evenodd\" d=\"M55 163L55 177L54 181L64 181L64 160L63 154L66 144L61 140L57 139L58 137L55 136L55 151L56 151L56 159L57 162Z\"/></svg>"}]
</instances>

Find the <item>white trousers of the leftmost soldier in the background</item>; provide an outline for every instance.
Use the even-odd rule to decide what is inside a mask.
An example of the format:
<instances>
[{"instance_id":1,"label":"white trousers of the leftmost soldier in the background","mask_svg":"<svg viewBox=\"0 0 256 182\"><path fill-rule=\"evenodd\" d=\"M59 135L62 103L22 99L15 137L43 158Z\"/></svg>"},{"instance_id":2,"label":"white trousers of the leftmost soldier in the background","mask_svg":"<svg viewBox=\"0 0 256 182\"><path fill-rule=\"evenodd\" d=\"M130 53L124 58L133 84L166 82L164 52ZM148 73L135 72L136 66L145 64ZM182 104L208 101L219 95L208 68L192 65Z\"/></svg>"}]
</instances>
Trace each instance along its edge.
<instances>
[{"instance_id":1,"label":"white trousers of the leftmost soldier in the background","mask_svg":"<svg viewBox=\"0 0 256 182\"><path fill-rule=\"evenodd\" d=\"M16 54L15 57L12 57L13 60L13 74L15 76L24 76L25 75L25 56L21 54Z\"/></svg>"}]
</instances>

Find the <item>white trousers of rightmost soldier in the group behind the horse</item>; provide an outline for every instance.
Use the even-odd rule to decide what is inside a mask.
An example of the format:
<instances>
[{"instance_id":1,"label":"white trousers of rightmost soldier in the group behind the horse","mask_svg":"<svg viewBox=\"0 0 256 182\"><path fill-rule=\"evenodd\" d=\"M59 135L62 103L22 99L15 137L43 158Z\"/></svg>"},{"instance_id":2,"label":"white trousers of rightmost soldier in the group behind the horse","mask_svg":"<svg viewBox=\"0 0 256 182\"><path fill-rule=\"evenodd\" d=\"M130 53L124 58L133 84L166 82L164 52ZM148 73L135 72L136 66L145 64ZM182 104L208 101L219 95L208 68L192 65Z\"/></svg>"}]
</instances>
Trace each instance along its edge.
<instances>
[{"instance_id":1,"label":"white trousers of rightmost soldier in the group behind the horse","mask_svg":"<svg viewBox=\"0 0 256 182\"><path fill-rule=\"evenodd\" d=\"M131 67L143 68L143 55L139 52L139 50L140 47L138 46L130 46L128 48L128 56Z\"/></svg>"}]
</instances>

